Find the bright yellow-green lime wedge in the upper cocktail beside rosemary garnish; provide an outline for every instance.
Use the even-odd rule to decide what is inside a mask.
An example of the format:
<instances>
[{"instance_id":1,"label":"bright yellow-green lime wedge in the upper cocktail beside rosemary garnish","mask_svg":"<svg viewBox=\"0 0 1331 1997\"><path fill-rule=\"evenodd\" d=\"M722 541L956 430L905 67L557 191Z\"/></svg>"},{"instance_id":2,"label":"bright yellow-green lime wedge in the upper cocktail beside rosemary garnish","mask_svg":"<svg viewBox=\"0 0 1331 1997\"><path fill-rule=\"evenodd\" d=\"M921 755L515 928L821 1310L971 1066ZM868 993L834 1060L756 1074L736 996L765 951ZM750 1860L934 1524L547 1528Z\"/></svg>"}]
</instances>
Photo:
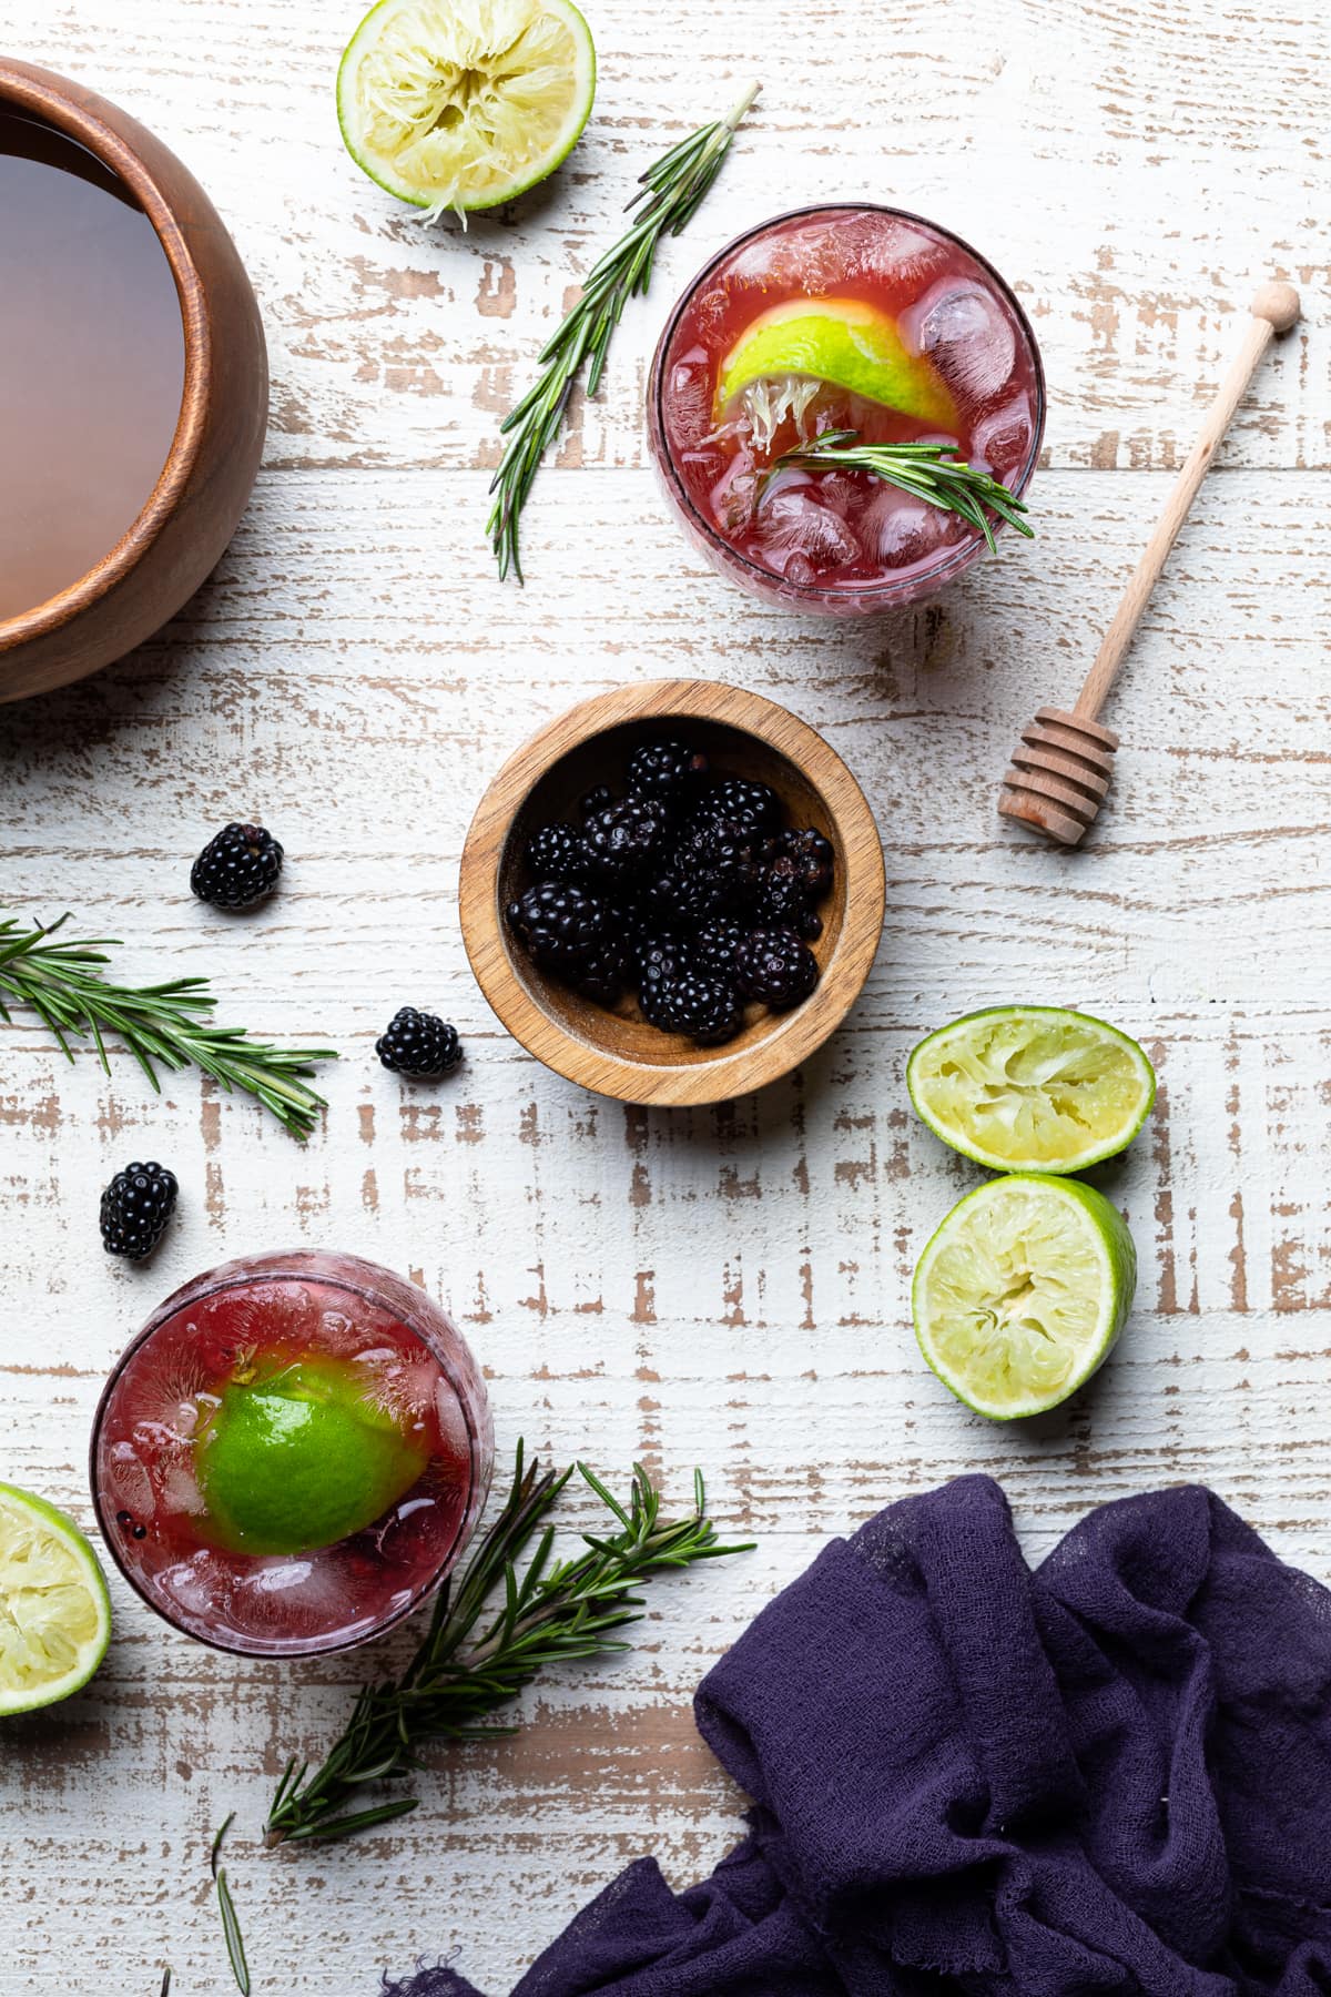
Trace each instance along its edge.
<instances>
[{"instance_id":1,"label":"bright yellow-green lime wedge in the upper cocktail beside rosemary garnish","mask_svg":"<svg viewBox=\"0 0 1331 1997\"><path fill-rule=\"evenodd\" d=\"M734 341L716 377L716 415L752 381L810 375L880 401L950 433L956 403L922 353L910 353L896 320L858 298L790 298L758 314Z\"/></svg>"}]
</instances>

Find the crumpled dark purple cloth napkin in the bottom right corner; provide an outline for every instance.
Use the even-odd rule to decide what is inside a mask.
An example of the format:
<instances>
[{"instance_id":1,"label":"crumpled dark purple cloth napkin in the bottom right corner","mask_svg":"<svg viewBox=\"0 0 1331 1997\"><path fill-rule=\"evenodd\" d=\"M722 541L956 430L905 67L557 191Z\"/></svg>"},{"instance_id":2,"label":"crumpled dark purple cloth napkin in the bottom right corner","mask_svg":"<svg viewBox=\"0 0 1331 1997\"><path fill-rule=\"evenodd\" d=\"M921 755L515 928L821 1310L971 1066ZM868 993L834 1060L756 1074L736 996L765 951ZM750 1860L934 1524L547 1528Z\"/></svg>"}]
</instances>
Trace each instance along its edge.
<instances>
[{"instance_id":1,"label":"crumpled dark purple cloth napkin in the bottom right corner","mask_svg":"<svg viewBox=\"0 0 1331 1997\"><path fill-rule=\"evenodd\" d=\"M988 1478L906 1498L696 1719L748 1837L678 1895L639 1859L513 1997L1331 1997L1331 1594L1207 1490L1036 1574Z\"/></svg>"}]
</instances>

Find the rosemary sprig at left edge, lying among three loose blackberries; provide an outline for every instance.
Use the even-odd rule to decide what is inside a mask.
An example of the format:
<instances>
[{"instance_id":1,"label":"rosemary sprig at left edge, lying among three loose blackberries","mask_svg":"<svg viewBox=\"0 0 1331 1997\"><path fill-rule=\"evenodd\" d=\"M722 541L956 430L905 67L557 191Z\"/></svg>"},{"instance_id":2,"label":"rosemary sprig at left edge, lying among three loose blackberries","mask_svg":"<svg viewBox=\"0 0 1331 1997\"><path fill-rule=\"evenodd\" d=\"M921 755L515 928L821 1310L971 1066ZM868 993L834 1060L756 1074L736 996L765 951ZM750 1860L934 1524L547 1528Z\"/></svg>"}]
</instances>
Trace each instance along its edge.
<instances>
[{"instance_id":1,"label":"rosemary sprig at left edge, lying among three loose blackberries","mask_svg":"<svg viewBox=\"0 0 1331 1997\"><path fill-rule=\"evenodd\" d=\"M48 929L20 929L18 917L0 919L0 1018L8 1002L30 1006L56 1034L70 1060L66 1034L92 1038L102 1070L110 1074L104 1034L118 1034L140 1068L162 1092L158 1068L202 1068L223 1088L257 1096L265 1110L297 1138L319 1120L323 1096L307 1086L311 1062L337 1060L327 1046L265 1046L243 1026L212 1026L206 1014L218 1002L208 979L170 979L166 985L116 985L102 975L106 949L116 939L52 943L70 921L62 915ZM6 1002L8 995L8 1002Z\"/></svg>"}]
</instances>

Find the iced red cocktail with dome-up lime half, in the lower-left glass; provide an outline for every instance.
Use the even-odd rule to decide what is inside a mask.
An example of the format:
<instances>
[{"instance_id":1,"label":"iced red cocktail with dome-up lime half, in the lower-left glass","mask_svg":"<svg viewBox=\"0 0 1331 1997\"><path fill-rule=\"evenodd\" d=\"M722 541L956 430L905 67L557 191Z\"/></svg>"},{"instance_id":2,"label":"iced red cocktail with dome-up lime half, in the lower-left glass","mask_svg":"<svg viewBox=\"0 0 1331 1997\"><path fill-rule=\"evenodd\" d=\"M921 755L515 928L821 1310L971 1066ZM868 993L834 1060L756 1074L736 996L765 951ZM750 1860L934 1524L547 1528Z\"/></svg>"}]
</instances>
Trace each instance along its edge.
<instances>
[{"instance_id":1,"label":"iced red cocktail with dome-up lime half, in the lower-left glass","mask_svg":"<svg viewBox=\"0 0 1331 1997\"><path fill-rule=\"evenodd\" d=\"M92 1496L126 1580L222 1650L361 1644L453 1568L493 1436L449 1318L339 1254L229 1262L178 1290L112 1374Z\"/></svg>"}]
</instances>

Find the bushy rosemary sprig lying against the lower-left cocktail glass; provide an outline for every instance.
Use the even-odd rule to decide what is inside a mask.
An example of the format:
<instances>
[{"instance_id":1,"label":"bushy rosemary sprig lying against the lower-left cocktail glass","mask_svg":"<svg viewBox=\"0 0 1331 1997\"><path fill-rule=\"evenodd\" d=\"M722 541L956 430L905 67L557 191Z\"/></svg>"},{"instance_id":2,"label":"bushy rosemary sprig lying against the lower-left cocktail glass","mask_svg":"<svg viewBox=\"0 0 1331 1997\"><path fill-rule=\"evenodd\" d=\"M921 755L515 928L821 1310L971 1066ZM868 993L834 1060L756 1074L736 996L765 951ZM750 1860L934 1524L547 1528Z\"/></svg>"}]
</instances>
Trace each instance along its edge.
<instances>
[{"instance_id":1,"label":"bushy rosemary sprig lying against the lower-left cocktail glass","mask_svg":"<svg viewBox=\"0 0 1331 1997\"><path fill-rule=\"evenodd\" d=\"M661 1518L661 1494L641 1464L627 1504L619 1504L585 1464L577 1470L617 1530L583 1534L585 1554L551 1564L555 1528L543 1520L573 1468L541 1472L525 1462L519 1442L503 1512L457 1586L439 1596L425 1642L403 1675L361 1689L345 1733L315 1773L309 1763L299 1769L287 1763L267 1813L269 1843L347 1837L407 1815L417 1807L413 1795L367 1809L349 1805L369 1783L401 1781L419 1769L417 1749L429 1739L515 1733L515 1727L481 1725L481 1719L547 1665L631 1650L613 1632L639 1622L643 1598L635 1590L653 1576L748 1552L748 1546L716 1542L696 1470L694 1510L682 1520ZM541 1538L519 1580L517 1562L537 1528L543 1528ZM485 1606L499 1592L503 1602L487 1620Z\"/></svg>"}]
</instances>

